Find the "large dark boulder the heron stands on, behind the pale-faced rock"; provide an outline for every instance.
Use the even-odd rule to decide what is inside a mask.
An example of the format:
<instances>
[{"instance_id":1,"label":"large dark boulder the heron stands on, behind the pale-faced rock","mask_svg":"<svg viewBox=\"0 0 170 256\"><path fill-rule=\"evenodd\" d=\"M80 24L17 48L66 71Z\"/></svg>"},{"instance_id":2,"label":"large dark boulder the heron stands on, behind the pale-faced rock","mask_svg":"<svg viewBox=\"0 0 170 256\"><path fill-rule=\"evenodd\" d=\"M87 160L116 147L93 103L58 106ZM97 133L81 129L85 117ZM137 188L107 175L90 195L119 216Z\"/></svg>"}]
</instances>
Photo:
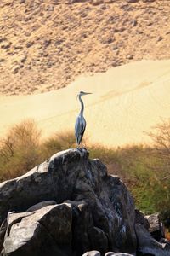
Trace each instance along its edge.
<instances>
[{"instance_id":1,"label":"large dark boulder the heron stands on, behind the pale-faced rock","mask_svg":"<svg viewBox=\"0 0 170 256\"><path fill-rule=\"evenodd\" d=\"M1 183L0 222L9 211L25 212L42 201L66 201L71 206L73 252L78 252L75 255L92 248L104 253L108 247L113 251L136 251L133 198L119 177L107 174L101 161L88 160L87 150L69 149L54 154L25 175ZM47 207L37 212L44 209ZM10 235L11 243L15 234ZM6 236L4 243L7 241Z\"/></svg>"}]
</instances>

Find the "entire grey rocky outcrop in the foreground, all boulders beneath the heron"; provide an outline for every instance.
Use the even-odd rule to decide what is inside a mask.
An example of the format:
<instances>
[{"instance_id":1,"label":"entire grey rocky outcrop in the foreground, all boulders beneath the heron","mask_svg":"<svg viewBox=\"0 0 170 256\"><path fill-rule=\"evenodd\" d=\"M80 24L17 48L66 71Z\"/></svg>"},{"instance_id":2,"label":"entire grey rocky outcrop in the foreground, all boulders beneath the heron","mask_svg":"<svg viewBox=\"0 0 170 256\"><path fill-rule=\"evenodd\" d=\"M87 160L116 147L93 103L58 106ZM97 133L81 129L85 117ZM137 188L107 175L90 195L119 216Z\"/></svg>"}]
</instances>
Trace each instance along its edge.
<instances>
[{"instance_id":1,"label":"entire grey rocky outcrop in the foreground, all boulders beneath the heron","mask_svg":"<svg viewBox=\"0 0 170 256\"><path fill-rule=\"evenodd\" d=\"M0 184L2 255L135 255L150 236L135 219L125 184L85 149L54 154Z\"/></svg>"}]
</instances>

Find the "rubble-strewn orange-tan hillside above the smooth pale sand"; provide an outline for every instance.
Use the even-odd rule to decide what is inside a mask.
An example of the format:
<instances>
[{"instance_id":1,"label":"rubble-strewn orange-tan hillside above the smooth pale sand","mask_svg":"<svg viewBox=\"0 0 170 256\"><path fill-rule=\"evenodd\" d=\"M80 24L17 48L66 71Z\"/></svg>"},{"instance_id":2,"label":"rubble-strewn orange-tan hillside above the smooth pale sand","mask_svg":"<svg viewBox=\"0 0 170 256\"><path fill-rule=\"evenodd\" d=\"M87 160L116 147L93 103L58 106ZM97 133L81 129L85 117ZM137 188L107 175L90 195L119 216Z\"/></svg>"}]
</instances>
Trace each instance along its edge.
<instances>
[{"instance_id":1,"label":"rubble-strewn orange-tan hillside above the smooth pale sand","mask_svg":"<svg viewBox=\"0 0 170 256\"><path fill-rule=\"evenodd\" d=\"M81 73L168 59L169 24L169 0L1 0L0 93L59 89Z\"/></svg>"}]
</instances>

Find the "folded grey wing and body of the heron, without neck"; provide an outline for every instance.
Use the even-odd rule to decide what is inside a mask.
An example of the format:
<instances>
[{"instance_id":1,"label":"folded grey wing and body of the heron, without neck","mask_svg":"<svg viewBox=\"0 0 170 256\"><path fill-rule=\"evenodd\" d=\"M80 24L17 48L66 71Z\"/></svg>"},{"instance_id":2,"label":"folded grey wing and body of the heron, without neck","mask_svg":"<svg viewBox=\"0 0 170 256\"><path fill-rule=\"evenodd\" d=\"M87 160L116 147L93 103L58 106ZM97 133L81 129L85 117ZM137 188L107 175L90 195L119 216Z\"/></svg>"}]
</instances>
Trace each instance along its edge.
<instances>
[{"instance_id":1,"label":"folded grey wing and body of the heron, without neck","mask_svg":"<svg viewBox=\"0 0 170 256\"><path fill-rule=\"evenodd\" d=\"M77 117L77 122L75 125L75 136L77 139L77 143L80 144L82 141L82 136L86 128L86 121L81 116Z\"/></svg>"}]
</instances>

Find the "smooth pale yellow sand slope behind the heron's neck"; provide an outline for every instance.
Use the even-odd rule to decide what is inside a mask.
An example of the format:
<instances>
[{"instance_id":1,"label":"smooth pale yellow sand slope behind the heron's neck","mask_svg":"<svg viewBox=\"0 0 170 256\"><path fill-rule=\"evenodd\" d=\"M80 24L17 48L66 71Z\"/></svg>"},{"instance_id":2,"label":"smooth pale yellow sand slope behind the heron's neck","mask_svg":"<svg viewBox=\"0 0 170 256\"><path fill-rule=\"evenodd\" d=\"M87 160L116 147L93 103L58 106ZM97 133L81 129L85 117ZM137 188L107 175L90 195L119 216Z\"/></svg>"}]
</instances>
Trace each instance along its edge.
<instances>
[{"instance_id":1,"label":"smooth pale yellow sand slope behind the heron's neck","mask_svg":"<svg viewBox=\"0 0 170 256\"><path fill-rule=\"evenodd\" d=\"M0 96L0 133L22 119L34 118L43 136L74 130L79 111L77 92L84 96L89 143L121 146L147 142L143 131L170 116L170 60L140 61L106 73L79 77L68 87L31 96Z\"/></svg>"}]
</instances>

